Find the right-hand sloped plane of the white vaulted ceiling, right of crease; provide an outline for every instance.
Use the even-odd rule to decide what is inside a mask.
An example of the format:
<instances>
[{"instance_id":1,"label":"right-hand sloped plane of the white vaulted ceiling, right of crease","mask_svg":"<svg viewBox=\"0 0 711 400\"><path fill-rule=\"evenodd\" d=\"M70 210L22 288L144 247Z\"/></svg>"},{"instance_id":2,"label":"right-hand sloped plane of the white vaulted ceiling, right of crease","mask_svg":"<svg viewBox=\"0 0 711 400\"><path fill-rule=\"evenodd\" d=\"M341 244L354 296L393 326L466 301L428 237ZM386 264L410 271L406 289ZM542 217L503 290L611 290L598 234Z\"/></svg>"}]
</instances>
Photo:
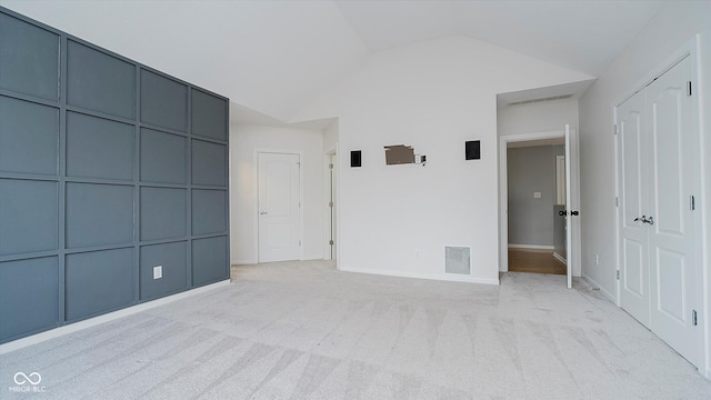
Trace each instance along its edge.
<instances>
[{"instance_id":1,"label":"right-hand sloped plane of the white vaulted ceiling, right of crease","mask_svg":"<svg viewBox=\"0 0 711 400\"><path fill-rule=\"evenodd\" d=\"M604 70L662 2L336 1L370 51L463 34L590 76Z\"/></svg>"}]
</instances>

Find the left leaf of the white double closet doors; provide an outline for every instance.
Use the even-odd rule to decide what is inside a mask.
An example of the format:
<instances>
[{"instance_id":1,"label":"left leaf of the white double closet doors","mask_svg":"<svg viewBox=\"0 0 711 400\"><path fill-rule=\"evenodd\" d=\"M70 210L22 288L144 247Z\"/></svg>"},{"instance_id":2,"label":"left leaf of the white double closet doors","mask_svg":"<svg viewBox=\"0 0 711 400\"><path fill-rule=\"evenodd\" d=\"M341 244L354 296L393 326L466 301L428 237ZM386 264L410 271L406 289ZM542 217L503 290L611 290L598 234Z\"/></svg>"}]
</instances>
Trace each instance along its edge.
<instances>
[{"instance_id":1,"label":"left leaf of the white double closet doors","mask_svg":"<svg viewBox=\"0 0 711 400\"><path fill-rule=\"evenodd\" d=\"M620 304L649 327L649 252L644 212L647 193L647 137L644 92L638 92L618 107L618 168L620 207Z\"/></svg>"}]
</instances>

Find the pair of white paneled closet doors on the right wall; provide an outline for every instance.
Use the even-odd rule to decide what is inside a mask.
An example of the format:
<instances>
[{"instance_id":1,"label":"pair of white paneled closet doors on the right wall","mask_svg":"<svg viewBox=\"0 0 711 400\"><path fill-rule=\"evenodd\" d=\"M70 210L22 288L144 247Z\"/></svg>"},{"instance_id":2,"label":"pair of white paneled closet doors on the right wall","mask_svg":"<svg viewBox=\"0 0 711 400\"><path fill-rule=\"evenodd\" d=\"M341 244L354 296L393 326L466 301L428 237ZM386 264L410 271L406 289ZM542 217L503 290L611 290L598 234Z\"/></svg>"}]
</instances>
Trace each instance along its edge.
<instances>
[{"instance_id":1,"label":"pair of white paneled closet doors on the right wall","mask_svg":"<svg viewBox=\"0 0 711 400\"><path fill-rule=\"evenodd\" d=\"M620 303L693 364L698 132L687 58L618 107ZM637 220L635 220L637 219Z\"/></svg>"}]
</instances>

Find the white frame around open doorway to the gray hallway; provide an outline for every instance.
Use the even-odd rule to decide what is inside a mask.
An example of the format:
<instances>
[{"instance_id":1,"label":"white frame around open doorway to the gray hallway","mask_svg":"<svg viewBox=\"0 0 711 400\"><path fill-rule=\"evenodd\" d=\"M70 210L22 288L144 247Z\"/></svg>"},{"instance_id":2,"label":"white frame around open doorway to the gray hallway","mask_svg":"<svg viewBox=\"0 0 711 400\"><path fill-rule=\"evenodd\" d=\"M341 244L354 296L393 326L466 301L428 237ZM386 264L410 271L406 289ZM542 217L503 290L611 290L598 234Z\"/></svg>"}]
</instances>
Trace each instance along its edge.
<instances>
[{"instance_id":1,"label":"white frame around open doorway to the gray hallway","mask_svg":"<svg viewBox=\"0 0 711 400\"><path fill-rule=\"evenodd\" d=\"M499 272L509 271L508 143L565 138L565 129L499 137ZM580 249L578 249L580 251ZM570 256L569 256L570 258ZM573 271L574 273L575 271ZM579 271L578 271L579 272ZM579 276L579 274L578 274Z\"/></svg>"}]
</instances>

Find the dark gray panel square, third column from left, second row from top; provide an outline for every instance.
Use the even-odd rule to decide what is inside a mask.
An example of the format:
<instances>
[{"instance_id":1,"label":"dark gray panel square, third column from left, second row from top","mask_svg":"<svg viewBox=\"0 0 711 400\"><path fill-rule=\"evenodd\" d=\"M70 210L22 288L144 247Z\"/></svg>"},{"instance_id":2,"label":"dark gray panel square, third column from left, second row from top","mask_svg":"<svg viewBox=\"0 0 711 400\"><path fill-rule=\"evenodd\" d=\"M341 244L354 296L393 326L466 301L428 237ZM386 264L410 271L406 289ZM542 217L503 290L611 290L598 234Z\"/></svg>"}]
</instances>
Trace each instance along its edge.
<instances>
[{"instance_id":1,"label":"dark gray panel square, third column from left, second row from top","mask_svg":"<svg viewBox=\"0 0 711 400\"><path fill-rule=\"evenodd\" d=\"M188 182L188 139L141 129L141 180L160 183Z\"/></svg>"}]
</instances>

